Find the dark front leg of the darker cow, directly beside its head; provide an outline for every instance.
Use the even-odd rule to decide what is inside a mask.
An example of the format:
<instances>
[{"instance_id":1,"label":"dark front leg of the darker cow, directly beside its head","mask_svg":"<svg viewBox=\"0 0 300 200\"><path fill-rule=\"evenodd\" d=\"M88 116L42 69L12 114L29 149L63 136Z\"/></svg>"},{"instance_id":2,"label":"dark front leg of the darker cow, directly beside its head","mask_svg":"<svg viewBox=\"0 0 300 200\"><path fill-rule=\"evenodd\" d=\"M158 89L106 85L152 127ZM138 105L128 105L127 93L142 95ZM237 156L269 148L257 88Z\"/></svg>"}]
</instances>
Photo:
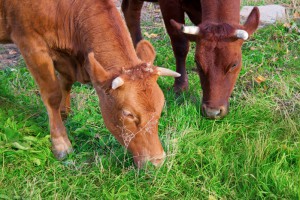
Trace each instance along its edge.
<instances>
[{"instance_id":1,"label":"dark front leg of the darker cow, directly beside its head","mask_svg":"<svg viewBox=\"0 0 300 200\"><path fill-rule=\"evenodd\" d=\"M168 3L168 1L159 1L165 26L167 32L170 36L174 56L176 59L176 71L181 74L180 77L175 78L174 91L179 93L181 91L188 90L188 76L186 73L186 57L189 51L189 41L188 39L179 31L177 31L170 24L170 20L174 19L179 23L184 24L184 11L180 5L179 1L176 3Z\"/></svg>"}]
</instances>

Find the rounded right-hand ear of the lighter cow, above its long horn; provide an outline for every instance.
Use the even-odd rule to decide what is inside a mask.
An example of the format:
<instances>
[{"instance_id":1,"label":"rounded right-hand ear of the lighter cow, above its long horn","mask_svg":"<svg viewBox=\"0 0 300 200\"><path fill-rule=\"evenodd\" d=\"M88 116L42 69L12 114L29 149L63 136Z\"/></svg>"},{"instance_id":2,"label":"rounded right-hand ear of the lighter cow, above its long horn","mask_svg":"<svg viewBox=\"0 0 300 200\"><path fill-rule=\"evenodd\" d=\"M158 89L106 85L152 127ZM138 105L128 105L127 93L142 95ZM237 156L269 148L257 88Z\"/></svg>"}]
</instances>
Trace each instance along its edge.
<instances>
[{"instance_id":1,"label":"rounded right-hand ear of the lighter cow, above its long horn","mask_svg":"<svg viewBox=\"0 0 300 200\"><path fill-rule=\"evenodd\" d=\"M144 62L153 64L156 52L150 42L141 40L136 46L136 54Z\"/></svg>"}]
</instances>

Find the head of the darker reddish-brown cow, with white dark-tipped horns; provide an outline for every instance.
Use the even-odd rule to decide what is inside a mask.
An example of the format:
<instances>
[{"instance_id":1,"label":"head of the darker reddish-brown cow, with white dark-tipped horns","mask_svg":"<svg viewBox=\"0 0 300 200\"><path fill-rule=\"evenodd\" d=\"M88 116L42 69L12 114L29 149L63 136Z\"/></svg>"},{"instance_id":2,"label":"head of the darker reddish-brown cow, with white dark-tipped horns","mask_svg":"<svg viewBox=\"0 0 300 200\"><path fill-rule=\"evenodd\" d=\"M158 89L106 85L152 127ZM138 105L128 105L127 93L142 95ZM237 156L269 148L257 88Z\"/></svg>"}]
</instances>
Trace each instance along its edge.
<instances>
[{"instance_id":1,"label":"head of the darker reddish-brown cow, with white dark-tipped horns","mask_svg":"<svg viewBox=\"0 0 300 200\"><path fill-rule=\"evenodd\" d=\"M246 23L201 23L184 26L171 24L196 42L195 61L203 89L202 114L208 118L228 113L229 97L242 67L241 46L259 24L259 10L254 8Z\"/></svg>"}]
</instances>

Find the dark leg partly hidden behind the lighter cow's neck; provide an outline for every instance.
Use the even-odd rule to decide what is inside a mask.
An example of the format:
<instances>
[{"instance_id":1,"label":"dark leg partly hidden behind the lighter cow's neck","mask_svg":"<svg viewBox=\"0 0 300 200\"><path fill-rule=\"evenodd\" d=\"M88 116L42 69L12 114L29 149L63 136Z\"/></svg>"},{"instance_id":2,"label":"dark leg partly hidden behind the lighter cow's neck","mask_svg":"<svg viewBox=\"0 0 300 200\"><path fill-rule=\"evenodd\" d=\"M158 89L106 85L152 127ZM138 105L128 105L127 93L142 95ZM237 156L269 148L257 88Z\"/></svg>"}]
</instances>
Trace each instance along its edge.
<instances>
[{"instance_id":1,"label":"dark leg partly hidden behind the lighter cow's neck","mask_svg":"<svg viewBox=\"0 0 300 200\"><path fill-rule=\"evenodd\" d=\"M122 1L122 11L134 46L143 39L140 26L143 3L139 0Z\"/></svg>"}]
</instances>

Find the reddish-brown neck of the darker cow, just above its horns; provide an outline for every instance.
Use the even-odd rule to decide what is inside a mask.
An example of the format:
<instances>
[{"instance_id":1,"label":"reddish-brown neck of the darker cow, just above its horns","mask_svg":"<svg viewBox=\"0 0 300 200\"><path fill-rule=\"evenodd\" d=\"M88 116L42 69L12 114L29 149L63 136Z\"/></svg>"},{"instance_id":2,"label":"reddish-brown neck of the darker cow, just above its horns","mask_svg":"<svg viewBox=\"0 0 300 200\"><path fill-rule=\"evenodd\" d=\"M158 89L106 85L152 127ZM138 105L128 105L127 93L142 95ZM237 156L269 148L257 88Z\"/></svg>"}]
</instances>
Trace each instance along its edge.
<instances>
[{"instance_id":1,"label":"reddish-brown neck of the darker cow, just above its horns","mask_svg":"<svg viewBox=\"0 0 300 200\"><path fill-rule=\"evenodd\" d=\"M240 0L202 0L202 23L239 24Z\"/></svg>"}]
</instances>

